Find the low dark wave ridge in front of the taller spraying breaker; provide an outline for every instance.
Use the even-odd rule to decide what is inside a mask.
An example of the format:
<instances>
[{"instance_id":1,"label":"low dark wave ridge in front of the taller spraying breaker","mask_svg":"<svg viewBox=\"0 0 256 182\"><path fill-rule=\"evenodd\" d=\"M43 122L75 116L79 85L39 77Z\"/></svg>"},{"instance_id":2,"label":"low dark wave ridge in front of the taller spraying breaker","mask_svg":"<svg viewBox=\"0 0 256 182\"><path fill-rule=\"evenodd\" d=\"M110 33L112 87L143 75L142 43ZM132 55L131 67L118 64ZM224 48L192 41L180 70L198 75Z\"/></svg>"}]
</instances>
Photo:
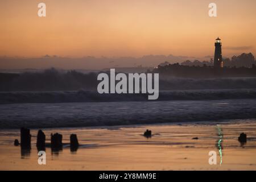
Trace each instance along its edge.
<instances>
[{"instance_id":1,"label":"low dark wave ridge in front of the taller spraying breaker","mask_svg":"<svg viewBox=\"0 0 256 182\"><path fill-rule=\"evenodd\" d=\"M160 91L156 101L256 98L256 89ZM148 101L148 94L99 94L94 91L0 92L0 104Z\"/></svg>"}]
</instances>

